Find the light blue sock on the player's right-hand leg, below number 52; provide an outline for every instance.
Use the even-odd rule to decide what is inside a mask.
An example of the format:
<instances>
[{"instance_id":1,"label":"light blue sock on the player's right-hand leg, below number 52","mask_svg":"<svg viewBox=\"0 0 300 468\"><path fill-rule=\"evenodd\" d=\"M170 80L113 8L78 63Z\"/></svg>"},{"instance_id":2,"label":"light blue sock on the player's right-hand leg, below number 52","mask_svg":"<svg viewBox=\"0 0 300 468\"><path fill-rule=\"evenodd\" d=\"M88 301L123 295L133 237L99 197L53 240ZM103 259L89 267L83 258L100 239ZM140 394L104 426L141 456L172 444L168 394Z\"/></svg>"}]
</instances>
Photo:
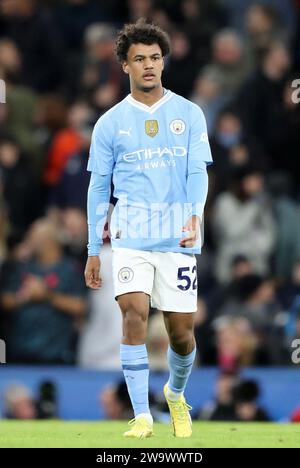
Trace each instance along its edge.
<instances>
[{"instance_id":1,"label":"light blue sock on the player's right-hand leg, below number 52","mask_svg":"<svg viewBox=\"0 0 300 468\"><path fill-rule=\"evenodd\" d=\"M190 354L181 356L175 353L171 346L168 348L168 363L170 369L170 377L168 387L172 392L183 393L192 371L193 363L196 356L196 346Z\"/></svg>"}]
</instances>

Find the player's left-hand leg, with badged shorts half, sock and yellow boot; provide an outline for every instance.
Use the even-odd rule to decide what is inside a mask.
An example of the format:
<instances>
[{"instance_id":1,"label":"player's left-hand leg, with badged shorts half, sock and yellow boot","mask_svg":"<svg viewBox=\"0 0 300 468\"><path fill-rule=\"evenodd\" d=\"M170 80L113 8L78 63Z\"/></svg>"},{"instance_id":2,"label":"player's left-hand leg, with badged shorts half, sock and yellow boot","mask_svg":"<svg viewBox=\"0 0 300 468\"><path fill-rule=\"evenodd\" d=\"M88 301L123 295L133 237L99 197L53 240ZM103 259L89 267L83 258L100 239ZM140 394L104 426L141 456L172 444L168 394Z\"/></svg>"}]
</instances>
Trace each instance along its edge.
<instances>
[{"instance_id":1,"label":"player's left-hand leg, with badged shorts half, sock and yellow boot","mask_svg":"<svg viewBox=\"0 0 300 468\"><path fill-rule=\"evenodd\" d=\"M121 364L135 416L132 429L124 435L149 437L153 433L153 420L149 409L149 363L145 342L153 267L145 254L129 249L118 251L113 265L115 295L123 317Z\"/></svg>"}]
</instances>

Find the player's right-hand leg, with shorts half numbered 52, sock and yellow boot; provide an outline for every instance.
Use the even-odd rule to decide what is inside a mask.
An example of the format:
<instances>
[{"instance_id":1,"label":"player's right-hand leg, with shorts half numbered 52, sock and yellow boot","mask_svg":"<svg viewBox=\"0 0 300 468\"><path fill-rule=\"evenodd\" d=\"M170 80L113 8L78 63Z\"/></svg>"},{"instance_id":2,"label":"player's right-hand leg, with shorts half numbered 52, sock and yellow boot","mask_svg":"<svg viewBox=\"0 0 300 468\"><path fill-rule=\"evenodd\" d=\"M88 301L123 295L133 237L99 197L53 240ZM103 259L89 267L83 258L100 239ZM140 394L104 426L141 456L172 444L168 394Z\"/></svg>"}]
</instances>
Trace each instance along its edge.
<instances>
[{"instance_id":1,"label":"player's right-hand leg, with shorts half numbered 52, sock and yellow boot","mask_svg":"<svg viewBox=\"0 0 300 468\"><path fill-rule=\"evenodd\" d=\"M176 437L190 437L191 409L184 390L195 360L194 312L197 310L196 260L194 256L160 254L156 264L152 305L164 312L169 335L170 376L164 387Z\"/></svg>"}]
</instances>

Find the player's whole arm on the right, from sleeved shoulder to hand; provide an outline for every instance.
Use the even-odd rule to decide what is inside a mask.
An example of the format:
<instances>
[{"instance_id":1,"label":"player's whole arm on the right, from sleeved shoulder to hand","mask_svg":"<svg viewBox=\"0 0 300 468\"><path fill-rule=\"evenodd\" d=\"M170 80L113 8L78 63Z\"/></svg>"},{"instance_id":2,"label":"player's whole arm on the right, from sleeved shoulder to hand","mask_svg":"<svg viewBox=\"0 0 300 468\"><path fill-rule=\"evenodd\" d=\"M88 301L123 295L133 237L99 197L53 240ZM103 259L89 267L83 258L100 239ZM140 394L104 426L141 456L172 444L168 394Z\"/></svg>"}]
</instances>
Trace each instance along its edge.
<instances>
[{"instance_id":1,"label":"player's whole arm on the right, from sleeved shoulder to hand","mask_svg":"<svg viewBox=\"0 0 300 468\"><path fill-rule=\"evenodd\" d=\"M208 193L207 165L211 163L205 117L198 106L192 105L186 182L187 201L192 206L192 214L183 227L183 232L187 232L187 235L181 239L181 247L193 247L199 237Z\"/></svg>"}]
</instances>

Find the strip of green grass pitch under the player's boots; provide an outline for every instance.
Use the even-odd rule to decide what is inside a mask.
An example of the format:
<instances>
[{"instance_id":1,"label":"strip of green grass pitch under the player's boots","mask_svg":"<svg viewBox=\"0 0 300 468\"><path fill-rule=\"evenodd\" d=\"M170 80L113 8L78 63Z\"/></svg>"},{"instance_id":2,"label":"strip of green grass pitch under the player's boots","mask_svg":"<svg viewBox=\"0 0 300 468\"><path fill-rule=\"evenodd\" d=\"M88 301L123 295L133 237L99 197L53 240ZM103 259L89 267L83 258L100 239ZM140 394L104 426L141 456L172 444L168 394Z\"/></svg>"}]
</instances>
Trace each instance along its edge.
<instances>
[{"instance_id":1,"label":"strip of green grass pitch under the player's boots","mask_svg":"<svg viewBox=\"0 0 300 468\"><path fill-rule=\"evenodd\" d=\"M126 422L2 421L0 447L300 447L300 424L194 422L190 439L155 423L149 439L125 439Z\"/></svg>"}]
</instances>

